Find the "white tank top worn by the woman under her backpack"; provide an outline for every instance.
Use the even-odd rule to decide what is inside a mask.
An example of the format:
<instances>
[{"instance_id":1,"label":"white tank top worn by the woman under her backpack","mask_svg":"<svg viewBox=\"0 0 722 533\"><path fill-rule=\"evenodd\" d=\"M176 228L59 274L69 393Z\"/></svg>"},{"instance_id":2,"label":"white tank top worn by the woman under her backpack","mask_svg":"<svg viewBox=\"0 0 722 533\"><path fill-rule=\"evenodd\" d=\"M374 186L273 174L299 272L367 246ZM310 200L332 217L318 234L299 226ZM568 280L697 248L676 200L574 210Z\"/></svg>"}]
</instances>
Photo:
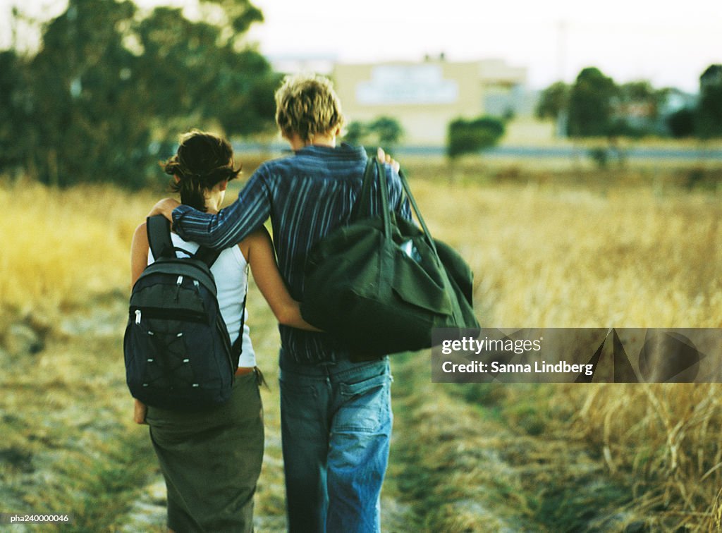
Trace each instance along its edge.
<instances>
[{"instance_id":1,"label":"white tank top worn by the woman under her backpack","mask_svg":"<svg viewBox=\"0 0 722 533\"><path fill-rule=\"evenodd\" d=\"M195 254L199 248L197 243L183 241L175 233L171 233L170 238L173 241L173 246L183 248L183 250L187 250L191 254ZM176 251L175 255L178 257L184 256L183 252L180 251ZM153 253L148 250L148 264L153 261L155 261ZM243 305L245 287L248 282L247 265L248 263L245 261L243 254L240 253L240 248L232 246L232 248L226 248L222 251L211 267L218 290L218 306L228 329L231 344L235 342L235 339L238 339L240 308ZM243 352L240 354L238 366L256 366L256 353L253 352L251 330L248 328L248 308L245 310L245 320L243 321Z\"/></svg>"}]
</instances>

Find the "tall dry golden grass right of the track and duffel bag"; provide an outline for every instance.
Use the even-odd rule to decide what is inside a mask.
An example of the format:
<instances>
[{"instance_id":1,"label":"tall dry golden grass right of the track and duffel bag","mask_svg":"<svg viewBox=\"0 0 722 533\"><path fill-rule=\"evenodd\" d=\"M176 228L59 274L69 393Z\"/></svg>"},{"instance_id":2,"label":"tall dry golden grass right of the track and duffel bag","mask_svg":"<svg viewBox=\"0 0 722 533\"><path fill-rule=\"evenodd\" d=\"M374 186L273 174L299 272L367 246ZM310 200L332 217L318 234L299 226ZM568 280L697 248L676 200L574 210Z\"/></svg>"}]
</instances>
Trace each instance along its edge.
<instances>
[{"instance_id":1,"label":"tall dry golden grass right of the track and duffel bag","mask_svg":"<svg viewBox=\"0 0 722 533\"><path fill-rule=\"evenodd\" d=\"M415 194L435 236L476 275L487 327L722 326L722 206L710 191L451 184ZM651 527L706 529L721 516L718 384L471 386L509 425L583 442L631 481ZM459 392L459 391L457 391ZM530 398L531 397L531 398ZM500 406L500 407L498 407Z\"/></svg>"}]
</instances>

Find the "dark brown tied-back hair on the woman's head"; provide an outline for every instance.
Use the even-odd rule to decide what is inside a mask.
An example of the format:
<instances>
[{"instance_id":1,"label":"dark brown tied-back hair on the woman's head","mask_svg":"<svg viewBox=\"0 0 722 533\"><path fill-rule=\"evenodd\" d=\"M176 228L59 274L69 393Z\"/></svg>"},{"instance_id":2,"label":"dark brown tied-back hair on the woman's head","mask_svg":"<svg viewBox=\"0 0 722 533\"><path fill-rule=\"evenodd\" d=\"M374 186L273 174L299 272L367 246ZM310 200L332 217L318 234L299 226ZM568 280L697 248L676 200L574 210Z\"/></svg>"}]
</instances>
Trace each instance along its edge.
<instances>
[{"instance_id":1,"label":"dark brown tied-back hair on the woman's head","mask_svg":"<svg viewBox=\"0 0 722 533\"><path fill-rule=\"evenodd\" d=\"M199 211L206 210L204 191L221 181L232 180L240 173L240 167L234 167L230 143L197 129L181 136L178 152L162 162L162 167L166 174L178 177L170 187L173 192L181 193L181 204Z\"/></svg>"}]
</instances>

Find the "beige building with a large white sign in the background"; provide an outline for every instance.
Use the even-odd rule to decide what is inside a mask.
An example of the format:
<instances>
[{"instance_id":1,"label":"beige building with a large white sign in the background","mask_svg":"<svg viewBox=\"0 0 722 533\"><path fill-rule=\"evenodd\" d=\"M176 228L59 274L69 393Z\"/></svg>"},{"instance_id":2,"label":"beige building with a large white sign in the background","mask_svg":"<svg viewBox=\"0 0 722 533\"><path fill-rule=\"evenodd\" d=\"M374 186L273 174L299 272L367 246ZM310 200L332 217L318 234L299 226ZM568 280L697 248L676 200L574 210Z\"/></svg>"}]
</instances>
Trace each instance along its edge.
<instances>
[{"instance_id":1,"label":"beige building with a large white sign in the background","mask_svg":"<svg viewBox=\"0 0 722 533\"><path fill-rule=\"evenodd\" d=\"M504 61L336 64L336 92L347 121L395 118L404 144L445 144L448 123L482 115L531 117L526 68Z\"/></svg>"}]
</instances>

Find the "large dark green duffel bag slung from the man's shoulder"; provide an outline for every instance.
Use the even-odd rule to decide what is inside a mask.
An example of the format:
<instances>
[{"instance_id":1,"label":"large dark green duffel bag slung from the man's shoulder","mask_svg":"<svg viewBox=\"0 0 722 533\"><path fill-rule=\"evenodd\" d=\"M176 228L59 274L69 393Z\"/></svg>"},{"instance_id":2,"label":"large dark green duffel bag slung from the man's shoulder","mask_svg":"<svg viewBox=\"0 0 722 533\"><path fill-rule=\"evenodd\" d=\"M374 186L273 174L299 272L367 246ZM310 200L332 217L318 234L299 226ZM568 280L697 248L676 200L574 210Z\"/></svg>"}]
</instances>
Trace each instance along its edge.
<instances>
[{"instance_id":1,"label":"large dark green duffel bag slung from the man's shoulder","mask_svg":"<svg viewBox=\"0 0 722 533\"><path fill-rule=\"evenodd\" d=\"M381 212L370 217L375 175ZM356 360L429 348L434 328L479 329L471 269L432 238L399 175L421 229L391 210L386 172L373 158L352 222L319 241L305 267L303 318L334 335Z\"/></svg>"}]
</instances>

